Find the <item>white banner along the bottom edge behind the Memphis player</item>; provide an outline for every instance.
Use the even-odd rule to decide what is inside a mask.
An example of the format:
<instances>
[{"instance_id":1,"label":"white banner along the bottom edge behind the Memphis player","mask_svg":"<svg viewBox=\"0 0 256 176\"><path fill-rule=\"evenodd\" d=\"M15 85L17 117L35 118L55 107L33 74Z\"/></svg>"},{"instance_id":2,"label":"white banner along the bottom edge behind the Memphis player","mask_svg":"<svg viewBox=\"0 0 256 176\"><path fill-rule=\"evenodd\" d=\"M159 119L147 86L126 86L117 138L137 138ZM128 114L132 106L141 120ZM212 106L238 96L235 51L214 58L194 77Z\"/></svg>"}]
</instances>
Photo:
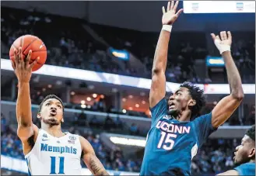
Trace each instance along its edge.
<instances>
[{"instance_id":1,"label":"white banner along the bottom edge behind the Memphis player","mask_svg":"<svg viewBox=\"0 0 256 176\"><path fill-rule=\"evenodd\" d=\"M6 157L1 155L1 168L8 169L9 171L18 171L22 173L28 173L28 168L25 160L19 160L13 157ZM107 170L110 175L139 175L138 172L128 172L128 171L110 171ZM93 175L89 169L82 168L82 175Z\"/></svg>"}]
</instances>

